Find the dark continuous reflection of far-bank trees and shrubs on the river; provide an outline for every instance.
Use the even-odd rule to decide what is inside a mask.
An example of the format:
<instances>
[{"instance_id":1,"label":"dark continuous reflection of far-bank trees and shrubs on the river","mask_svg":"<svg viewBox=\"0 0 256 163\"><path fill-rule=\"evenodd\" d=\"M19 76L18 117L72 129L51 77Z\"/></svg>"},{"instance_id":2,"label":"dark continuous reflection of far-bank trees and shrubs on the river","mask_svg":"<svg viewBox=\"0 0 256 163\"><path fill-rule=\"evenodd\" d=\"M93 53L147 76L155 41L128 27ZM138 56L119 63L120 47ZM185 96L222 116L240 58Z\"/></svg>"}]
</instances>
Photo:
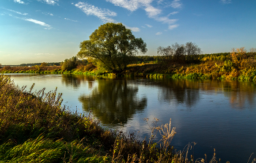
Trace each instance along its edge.
<instances>
[{"instance_id":1,"label":"dark continuous reflection of far-bank trees and shrubs on the river","mask_svg":"<svg viewBox=\"0 0 256 163\"><path fill-rule=\"evenodd\" d=\"M176 102L191 110L204 96L202 94L224 94L230 99L230 107L244 109L246 104L255 105L255 83L221 80L129 80L97 79L86 75L62 75L62 83L74 89L88 83L91 93L79 96L83 110L92 109L93 115L102 124L126 124L135 113L147 107L146 97L138 98L140 86L151 92L158 91L158 102ZM98 86L92 86L98 83ZM153 87L152 87L153 86ZM149 94L146 94L148 96Z\"/></svg>"}]
</instances>

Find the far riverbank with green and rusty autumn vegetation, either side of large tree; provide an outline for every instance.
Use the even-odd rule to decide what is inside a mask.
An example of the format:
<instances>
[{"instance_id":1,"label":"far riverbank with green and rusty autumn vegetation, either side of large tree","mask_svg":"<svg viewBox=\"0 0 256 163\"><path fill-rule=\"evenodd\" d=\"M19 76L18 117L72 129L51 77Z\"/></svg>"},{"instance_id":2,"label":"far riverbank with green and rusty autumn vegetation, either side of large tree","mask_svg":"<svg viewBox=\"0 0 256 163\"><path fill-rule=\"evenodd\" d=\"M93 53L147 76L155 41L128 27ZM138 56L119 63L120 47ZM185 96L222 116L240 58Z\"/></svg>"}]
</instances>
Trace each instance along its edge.
<instances>
[{"instance_id":1,"label":"far riverbank with green and rusty autumn vegetation, either side of large tree","mask_svg":"<svg viewBox=\"0 0 256 163\"><path fill-rule=\"evenodd\" d=\"M246 53L244 54L246 57L239 59L238 54L234 54L233 57L230 55L230 53L202 55L194 64L181 64L171 60L130 64L121 76L256 81L255 53ZM112 73L103 72L95 66L89 69L88 65L79 66L70 71L62 70L61 66L3 67L0 69L0 73L116 76Z\"/></svg>"}]
</instances>

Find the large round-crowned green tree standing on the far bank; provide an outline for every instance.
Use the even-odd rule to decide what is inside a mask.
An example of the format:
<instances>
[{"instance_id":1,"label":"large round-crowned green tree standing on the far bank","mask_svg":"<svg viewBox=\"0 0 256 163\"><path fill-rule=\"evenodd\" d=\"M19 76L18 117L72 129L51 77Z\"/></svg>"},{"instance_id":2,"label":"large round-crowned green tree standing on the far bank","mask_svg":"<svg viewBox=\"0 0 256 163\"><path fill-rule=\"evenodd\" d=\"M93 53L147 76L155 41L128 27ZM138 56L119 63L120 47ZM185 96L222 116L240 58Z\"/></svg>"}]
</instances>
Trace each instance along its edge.
<instances>
[{"instance_id":1,"label":"large round-crowned green tree standing on the far bank","mask_svg":"<svg viewBox=\"0 0 256 163\"><path fill-rule=\"evenodd\" d=\"M109 72L121 73L138 52L146 53L146 43L135 38L122 23L105 23L99 26L89 40L80 43L80 58L93 58Z\"/></svg>"}]
</instances>

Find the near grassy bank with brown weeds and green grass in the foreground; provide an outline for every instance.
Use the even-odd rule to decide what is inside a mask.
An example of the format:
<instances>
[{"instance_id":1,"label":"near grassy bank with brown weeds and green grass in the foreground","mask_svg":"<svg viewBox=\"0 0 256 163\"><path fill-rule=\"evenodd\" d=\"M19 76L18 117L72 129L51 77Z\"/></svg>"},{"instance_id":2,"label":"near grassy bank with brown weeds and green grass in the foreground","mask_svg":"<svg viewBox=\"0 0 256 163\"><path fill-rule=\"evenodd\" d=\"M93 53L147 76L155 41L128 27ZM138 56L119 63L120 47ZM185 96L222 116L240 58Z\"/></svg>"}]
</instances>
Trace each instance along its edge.
<instances>
[{"instance_id":1,"label":"near grassy bank with brown weeds and green grass in the foreground","mask_svg":"<svg viewBox=\"0 0 256 163\"><path fill-rule=\"evenodd\" d=\"M24 91L0 75L0 162L195 162L186 151L173 150L170 124L148 124L151 138L141 142L61 107L56 90L32 88ZM162 140L155 143L157 132Z\"/></svg>"}]
</instances>

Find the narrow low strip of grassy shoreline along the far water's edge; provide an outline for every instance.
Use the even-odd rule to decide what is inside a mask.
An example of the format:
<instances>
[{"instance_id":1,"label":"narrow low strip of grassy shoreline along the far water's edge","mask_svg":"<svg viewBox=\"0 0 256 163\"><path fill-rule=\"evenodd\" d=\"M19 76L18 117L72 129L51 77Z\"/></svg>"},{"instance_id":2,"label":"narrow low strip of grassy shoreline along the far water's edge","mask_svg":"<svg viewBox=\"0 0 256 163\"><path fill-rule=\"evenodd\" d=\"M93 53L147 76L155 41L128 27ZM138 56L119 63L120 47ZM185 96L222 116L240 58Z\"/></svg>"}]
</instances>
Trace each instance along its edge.
<instances>
[{"instance_id":1,"label":"narrow low strip of grassy shoreline along the far water's edge","mask_svg":"<svg viewBox=\"0 0 256 163\"><path fill-rule=\"evenodd\" d=\"M4 69L4 68L2 68ZM201 79L201 80L239 80L239 81L253 81L256 82L256 70L249 70L245 72L244 70L236 73L241 75L237 75L236 77L230 76L230 73L222 73L222 72L211 72L203 74L201 72L191 72L186 73L183 71L178 72L178 69L174 70L173 73L154 73L154 72L126 72L123 75L115 75L113 73L106 73L104 75L97 75L96 71L91 72L83 72L78 69L73 69L72 71L63 71L61 69L52 69L52 70L34 70L29 69L27 67L24 69L12 71L9 69L2 70L0 69L1 74L20 74L20 73L30 73L30 74L52 74L52 75L95 75L97 77L147 77L147 78L174 78L174 79Z\"/></svg>"}]
</instances>

